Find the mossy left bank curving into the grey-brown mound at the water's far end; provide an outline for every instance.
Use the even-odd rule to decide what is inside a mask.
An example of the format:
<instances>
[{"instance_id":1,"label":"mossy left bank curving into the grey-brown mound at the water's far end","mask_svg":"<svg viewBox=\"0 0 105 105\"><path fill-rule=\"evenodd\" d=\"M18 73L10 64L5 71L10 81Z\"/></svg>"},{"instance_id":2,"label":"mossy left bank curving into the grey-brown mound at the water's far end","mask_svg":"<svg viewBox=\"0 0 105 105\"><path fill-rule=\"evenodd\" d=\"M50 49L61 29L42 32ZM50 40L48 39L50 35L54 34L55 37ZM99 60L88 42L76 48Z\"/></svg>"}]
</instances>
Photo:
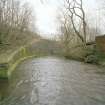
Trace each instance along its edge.
<instances>
[{"instance_id":1,"label":"mossy left bank curving into the grey-brown mound at the water's far end","mask_svg":"<svg viewBox=\"0 0 105 105\"><path fill-rule=\"evenodd\" d=\"M0 53L0 78L8 78L16 66L29 57L61 56L61 46L56 41L39 39L22 47Z\"/></svg>"}]
</instances>

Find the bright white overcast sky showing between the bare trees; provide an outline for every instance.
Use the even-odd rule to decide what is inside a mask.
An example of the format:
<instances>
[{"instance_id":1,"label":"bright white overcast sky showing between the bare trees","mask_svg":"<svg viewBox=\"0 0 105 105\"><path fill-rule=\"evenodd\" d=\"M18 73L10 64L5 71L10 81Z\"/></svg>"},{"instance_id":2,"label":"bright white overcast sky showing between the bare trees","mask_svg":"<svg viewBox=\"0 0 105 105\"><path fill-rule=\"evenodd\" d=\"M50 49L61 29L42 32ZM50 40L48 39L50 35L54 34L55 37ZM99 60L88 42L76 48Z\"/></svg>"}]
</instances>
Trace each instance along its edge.
<instances>
[{"instance_id":1,"label":"bright white overcast sky showing between the bare trees","mask_svg":"<svg viewBox=\"0 0 105 105\"><path fill-rule=\"evenodd\" d=\"M58 23L57 23L57 15L59 14L59 7L62 5L63 0L43 0L45 1L43 4L40 2L40 0L28 0L33 9L36 12L36 26L38 30L43 33L43 35L48 35L48 37L51 37L52 34L57 33ZM93 17L93 20L96 17L96 9L97 4L95 0L83 0L85 10L88 11L89 19ZM95 15L93 15L95 14ZM90 16L91 15L91 16ZM93 16L92 16L93 15Z\"/></svg>"}]
</instances>

